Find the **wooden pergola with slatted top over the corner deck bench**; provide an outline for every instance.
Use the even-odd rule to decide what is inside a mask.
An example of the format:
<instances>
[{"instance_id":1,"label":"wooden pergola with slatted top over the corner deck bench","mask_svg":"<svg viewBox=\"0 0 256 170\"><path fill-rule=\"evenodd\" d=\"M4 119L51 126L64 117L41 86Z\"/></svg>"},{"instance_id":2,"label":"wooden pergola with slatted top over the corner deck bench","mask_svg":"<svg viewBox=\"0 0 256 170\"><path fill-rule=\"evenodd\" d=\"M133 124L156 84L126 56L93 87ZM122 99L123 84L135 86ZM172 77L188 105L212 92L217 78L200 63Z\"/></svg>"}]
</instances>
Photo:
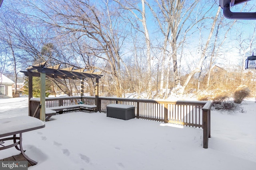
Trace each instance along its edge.
<instances>
[{"instance_id":1,"label":"wooden pergola with slatted top over the corner deck bench","mask_svg":"<svg viewBox=\"0 0 256 170\"><path fill-rule=\"evenodd\" d=\"M28 76L28 99L33 98L32 93L32 78L40 77L40 119L45 121L45 85L46 77L48 78L63 78L71 80L81 81L81 96L84 94L84 78L94 78L95 79L95 105L97 106L97 111L99 109L99 79L102 77L101 72L93 73L93 70L84 71L86 68L74 70L74 66L68 68L60 68L60 64L50 67L45 67L46 62L36 64L26 68L26 71L20 71ZM28 105L30 109L30 104ZM29 112L30 110L28 110Z\"/></svg>"}]
</instances>

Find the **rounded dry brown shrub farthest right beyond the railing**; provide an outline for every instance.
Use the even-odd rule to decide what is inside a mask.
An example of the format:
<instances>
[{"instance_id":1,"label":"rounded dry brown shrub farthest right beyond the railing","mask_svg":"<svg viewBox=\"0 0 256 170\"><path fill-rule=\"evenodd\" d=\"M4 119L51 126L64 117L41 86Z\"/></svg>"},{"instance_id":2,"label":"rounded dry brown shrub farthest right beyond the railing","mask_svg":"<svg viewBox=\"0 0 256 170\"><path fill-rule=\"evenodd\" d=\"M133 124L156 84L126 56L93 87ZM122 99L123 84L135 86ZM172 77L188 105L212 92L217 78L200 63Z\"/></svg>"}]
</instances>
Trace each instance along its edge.
<instances>
[{"instance_id":1,"label":"rounded dry brown shrub farthest right beyond the railing","mask_svg":"<svg viewBox=\"0 0 256 170\"><path fill-rule=\"evenodd\" d=\"M248 86L240 85L234 92L234 103L240 104L248 96L250 96L250 89Z\"/></svg>"}]
</instances>

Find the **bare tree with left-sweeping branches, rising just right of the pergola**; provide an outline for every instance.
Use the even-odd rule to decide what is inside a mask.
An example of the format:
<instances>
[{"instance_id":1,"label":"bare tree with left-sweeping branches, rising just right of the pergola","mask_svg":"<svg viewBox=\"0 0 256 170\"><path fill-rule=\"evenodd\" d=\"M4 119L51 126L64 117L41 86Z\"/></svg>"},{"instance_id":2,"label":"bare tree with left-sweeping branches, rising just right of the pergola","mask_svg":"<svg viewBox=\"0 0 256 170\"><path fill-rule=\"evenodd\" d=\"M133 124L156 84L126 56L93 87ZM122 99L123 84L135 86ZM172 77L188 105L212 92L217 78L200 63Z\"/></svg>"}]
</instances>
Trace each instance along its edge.
<instances>
[{"instance_id":1,"label":"bare tree with left-sweeping branches, rising just right of the pergola","mask_svg":"<svg viewBox=\"0 0 256 170\"><path fill-rule=\"evenodd\" d=\"M120 16L114 4L108 0L103 2L42 1L44 9L32 2L27 2L26 5L39 14L37 16L31 14L32 17L61 35L62 41L64 38L67 40L67 37L73 42L83 39L80 56L82 53L87 53L88 56L98 57L106 64L105 68L92 65L88 68L112 74L116 95L120 97L122 95L121 64L125 66L120 56L120 48L126 37L126 29L121 29L125 25L118 21Z\"/></svg>"}]
</instances>

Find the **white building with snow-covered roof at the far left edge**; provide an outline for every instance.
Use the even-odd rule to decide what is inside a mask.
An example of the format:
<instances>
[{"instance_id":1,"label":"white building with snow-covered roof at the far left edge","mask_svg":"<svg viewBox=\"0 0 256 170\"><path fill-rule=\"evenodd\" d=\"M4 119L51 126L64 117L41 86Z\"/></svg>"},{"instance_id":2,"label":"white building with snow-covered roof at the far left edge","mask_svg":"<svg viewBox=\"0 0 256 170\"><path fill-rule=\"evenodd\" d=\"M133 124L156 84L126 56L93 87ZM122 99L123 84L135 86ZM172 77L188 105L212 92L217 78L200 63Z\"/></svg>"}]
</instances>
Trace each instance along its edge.
<instances>
[{"instance_id":1,"label":"white building with snow-covered roof at the far left edge","mask_svg":"<svg viewBox=\"0 0 256 170\"><path fill-rule=\"evenodd\" d=\"M12 84L14 82L0 74L0 98L11 98L12 97Z\"/></svg>"}]
</instances>

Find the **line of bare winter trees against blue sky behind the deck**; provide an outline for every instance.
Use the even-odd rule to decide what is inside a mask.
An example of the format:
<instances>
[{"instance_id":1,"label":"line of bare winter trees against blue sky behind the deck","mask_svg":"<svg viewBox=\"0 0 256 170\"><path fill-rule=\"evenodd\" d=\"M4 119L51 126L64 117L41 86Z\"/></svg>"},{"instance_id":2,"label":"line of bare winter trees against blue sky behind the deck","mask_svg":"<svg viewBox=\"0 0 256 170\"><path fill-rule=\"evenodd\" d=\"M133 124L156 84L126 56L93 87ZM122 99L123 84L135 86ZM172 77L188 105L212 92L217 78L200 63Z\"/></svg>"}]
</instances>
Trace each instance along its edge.
<instances>
[{"instance_id":1,"label":"line of bare winter trees against blue sky behind the deck","mask_svg":"<svg viewBox=\"0 0 256 170\"><path fill-rule=\"evenodd\" d=\"M237 8L250 12L255 4ZM19 70L47 61L102 71L101 96L167 98L241 84L256 91L255 70L244 71L256 49L255 22L224 18L218 0L4 1L0 27L0 71L14 81ZM215 80L216 63L236 64L236 70ZM49 81L69 95L79 86ZM86 82L93 95L93 81Z\"/></svg>"}]
</instances>

